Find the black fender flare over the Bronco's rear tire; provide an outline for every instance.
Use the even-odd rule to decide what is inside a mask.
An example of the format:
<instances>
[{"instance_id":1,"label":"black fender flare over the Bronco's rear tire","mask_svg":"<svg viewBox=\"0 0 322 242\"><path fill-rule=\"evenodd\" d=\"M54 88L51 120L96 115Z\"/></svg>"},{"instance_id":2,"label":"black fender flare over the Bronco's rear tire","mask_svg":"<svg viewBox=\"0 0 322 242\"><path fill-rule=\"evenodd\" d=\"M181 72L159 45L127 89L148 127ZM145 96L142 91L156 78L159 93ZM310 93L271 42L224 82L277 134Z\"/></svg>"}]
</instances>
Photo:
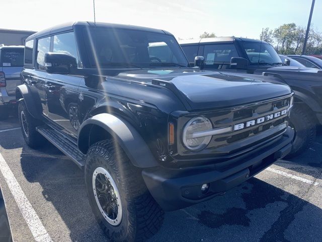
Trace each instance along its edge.
<instances>
[{"instance_id":1,"label":"black fender flare over the Bronco's rear tire","mask_svg":"<svg viewBox=\"0 0 322 242\"><path fill-rule=\"evenodd\" d=\"M41 119L41 114L37 111L37 105L33 99L32 93L29 91L26 84L22 84L16 87L16 99L17 101L25 101L28 112L31 116L37 119Z\"/></svg>"}]
</instances>

